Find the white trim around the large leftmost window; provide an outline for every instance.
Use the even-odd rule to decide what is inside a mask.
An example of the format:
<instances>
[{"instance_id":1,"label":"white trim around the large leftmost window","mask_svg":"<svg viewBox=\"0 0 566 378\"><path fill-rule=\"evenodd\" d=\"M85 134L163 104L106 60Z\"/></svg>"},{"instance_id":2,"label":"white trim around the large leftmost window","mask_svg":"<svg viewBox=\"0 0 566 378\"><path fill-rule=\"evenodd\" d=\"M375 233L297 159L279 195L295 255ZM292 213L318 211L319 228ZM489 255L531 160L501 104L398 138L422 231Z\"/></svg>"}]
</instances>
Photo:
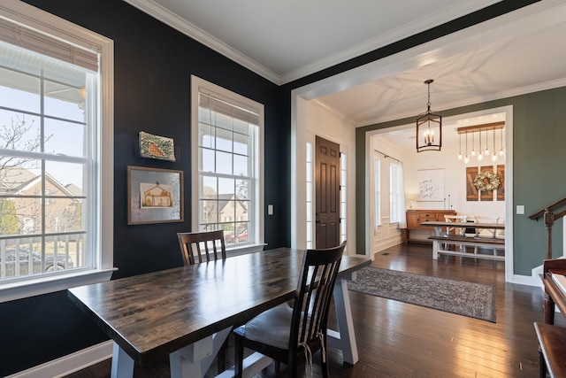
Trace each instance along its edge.
<instances>
[{"instance_id":1,"label":"white trim around the large leftmost window","mask_svg":"<svg viewBox=\"0 0 566 378\"><path fill-rule=\"evenodd\" d=\"M0 4L0 17L13 19L28 27L34 27L40 32L54 35L67 42L72 42L88 49L96 49L101 53L100 72L101 88L99 103L101 113L99 119L102 125L100 139L96 141L101 157L101 177L93 200L98 209L96 219L97 234L92 235L96 240L95 253L98 258L95 269L73 271L50 277L37 278L10 284L0 284L0 303L33 297L54 291L69 289L89 283L108 281L113 268L113 237L114 237L114 42L111 39L97 35L83 27L79 27L65 19L35 8L17 0L3 0ZM104 205L102 205L104 204Z\"/></svg>"}]
</instances>

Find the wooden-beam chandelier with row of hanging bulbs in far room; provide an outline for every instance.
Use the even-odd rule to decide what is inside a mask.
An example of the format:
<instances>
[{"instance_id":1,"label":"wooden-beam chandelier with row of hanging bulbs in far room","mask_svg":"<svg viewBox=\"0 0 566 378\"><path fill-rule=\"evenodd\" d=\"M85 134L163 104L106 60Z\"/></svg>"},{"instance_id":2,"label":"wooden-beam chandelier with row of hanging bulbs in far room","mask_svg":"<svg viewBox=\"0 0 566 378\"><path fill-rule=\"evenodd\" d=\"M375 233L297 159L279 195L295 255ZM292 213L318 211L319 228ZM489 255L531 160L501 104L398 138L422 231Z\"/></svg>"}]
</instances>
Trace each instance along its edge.
<instances>
[{"instance_id":1,"label":"wooden-beam chandelier with row of hanging bulbs in far room","mask_svg":"<svg viewBox=\"0 0 566 378\"><path fill-rule=\"evenodd\" d=\"M458 127L456 129L460 141L460 147L458 152L458 160L463 160L464 164L470 163L470 158L477 158L478 162L481 162L484 158L488 159L491 158L493 163L495 163L499 158L503 158L505 156L505 149L503 147L503 129L505 128L505 122L493 122L487 123L484 125L476 125L476 126L468 126L468 127ZM500 150L498 151L495 143L496 143L496 130L499 130L500 133ZM462 153L462 135L464 134L465 137L465 155ZM468 134L471 134L471 154L468 156ZM476 152L476 137L475 135L478 134L478 152ZM485 138L482 136L485 135ZM492 136L490 138L489 136ZM492 144L490 147L489 140L492 140ZM486 141L485 149L482 150L482 140ZM491 148L491 150L490 150Z\"/></svg>"}]
</instances>

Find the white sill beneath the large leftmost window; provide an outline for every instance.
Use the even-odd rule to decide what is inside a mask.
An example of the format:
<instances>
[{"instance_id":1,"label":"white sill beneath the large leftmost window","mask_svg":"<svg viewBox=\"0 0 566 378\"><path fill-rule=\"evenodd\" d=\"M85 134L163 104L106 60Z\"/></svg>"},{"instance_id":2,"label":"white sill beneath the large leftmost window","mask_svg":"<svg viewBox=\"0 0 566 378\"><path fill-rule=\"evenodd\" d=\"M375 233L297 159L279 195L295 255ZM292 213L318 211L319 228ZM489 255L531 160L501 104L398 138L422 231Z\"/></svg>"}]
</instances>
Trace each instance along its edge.
<instances>
[{"instance_id":1,"label":"white sill beneath the large leftmost window","mask_svg":"<svg viewBox=\"0 0 566 378\"><path fill-rule=\"evenodd\" d=\"M0 303L15 299L34 297L55 291L104 282L111 279L117 268L80 271L72 274L42 277L29 281L0 284Z\"/></svg>"}]
</instances>

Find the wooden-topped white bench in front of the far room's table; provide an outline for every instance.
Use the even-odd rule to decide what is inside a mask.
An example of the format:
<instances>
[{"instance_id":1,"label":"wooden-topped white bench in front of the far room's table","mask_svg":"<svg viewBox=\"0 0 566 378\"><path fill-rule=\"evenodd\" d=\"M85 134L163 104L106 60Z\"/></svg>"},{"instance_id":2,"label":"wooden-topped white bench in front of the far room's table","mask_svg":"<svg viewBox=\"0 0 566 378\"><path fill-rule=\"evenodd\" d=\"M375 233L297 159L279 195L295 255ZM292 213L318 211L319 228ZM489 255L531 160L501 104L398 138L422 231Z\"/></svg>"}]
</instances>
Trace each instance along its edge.
<instances>
[{"instance_id":1,"label":"wooden-topped white bench in front of the far room's table","mask_svg":"<svg viewBox=\"0 0 566 378\"><path fill-rule=\"evenodd\" d=\"M479 247L488 248L492 250L505 250L505 240L503 239L493 239L487 237L466 237L459 235L433 235L429 236L429 240L432 240L432 258L438 259L439 254L450 255L450 256L460 256L464 258L487 258L491 260L505 261L504 255L488 255L484 253L470 253L464 251L449 251L442 249L444 244L462 245L465 247Z\"/></svg>"}]
</instances>

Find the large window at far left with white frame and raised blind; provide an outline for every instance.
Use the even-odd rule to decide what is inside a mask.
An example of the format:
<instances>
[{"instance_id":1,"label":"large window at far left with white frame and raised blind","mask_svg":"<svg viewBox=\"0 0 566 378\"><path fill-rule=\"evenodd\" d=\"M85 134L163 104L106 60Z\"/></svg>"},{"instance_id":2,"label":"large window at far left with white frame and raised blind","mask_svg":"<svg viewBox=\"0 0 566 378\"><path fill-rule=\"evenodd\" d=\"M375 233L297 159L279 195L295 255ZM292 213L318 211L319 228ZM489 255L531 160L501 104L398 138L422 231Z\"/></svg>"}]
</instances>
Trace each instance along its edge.
<instances>
[{"instance_id":1,"label":"large window at far left with white frame and raised blind","mask_svg":"<svg viewBox=\"0 0 566 378\"><path fill-rule=\"evenodd\" d=\"M111 50L27 4L0 5L0 301L110 278Z\"/></svg>"}]
</instances>

